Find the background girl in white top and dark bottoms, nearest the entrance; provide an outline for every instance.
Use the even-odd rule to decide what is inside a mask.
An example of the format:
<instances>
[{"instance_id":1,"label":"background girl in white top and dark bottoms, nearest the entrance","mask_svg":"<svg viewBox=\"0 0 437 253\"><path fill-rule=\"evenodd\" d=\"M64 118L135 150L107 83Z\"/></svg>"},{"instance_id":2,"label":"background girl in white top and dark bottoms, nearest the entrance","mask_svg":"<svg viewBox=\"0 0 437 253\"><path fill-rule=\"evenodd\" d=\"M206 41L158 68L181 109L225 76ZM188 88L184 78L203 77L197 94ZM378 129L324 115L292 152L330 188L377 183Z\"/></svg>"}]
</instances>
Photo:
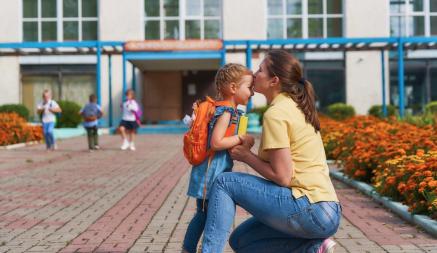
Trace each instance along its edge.
<instances>
[{"instance_id":1,"label":"background girl in white top and dark bottoms, nearest the entrance","mask_svg":"<svg viewBox=\"0 0 437 253\"><path fill-rule=\"evenodd\" d=\"M123 138L121 150L129 148L135 151L135 132L139 127L140 107L135 101L135 92L132 89L126 91L126 99L122 105L123 117L120 122L120 133Z\"/></svg>"}]
</instances>

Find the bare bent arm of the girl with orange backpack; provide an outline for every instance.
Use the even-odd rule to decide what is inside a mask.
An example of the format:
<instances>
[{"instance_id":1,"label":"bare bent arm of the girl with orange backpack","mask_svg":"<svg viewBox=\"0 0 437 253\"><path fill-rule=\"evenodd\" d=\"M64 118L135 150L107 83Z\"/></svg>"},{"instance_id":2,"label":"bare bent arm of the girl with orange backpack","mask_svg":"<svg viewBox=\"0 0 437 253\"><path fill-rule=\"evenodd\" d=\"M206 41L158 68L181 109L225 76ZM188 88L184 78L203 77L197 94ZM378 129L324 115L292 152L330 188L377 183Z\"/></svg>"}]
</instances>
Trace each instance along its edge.
<instances>
[{"instance_id":1,"label":"bare bent arm of the girl with orange backpack","mask_svg":"<svg viewBox=\"0 0 437 253\"><path fill-rule=\"evenodd\" d=\"M218 119L212 130L211 148L214 151L225 150L232 148L241 143L238 135L225 137L228 129L229 121L231 121L231 113L224 112Z\"/></svg>"}]
</instances>

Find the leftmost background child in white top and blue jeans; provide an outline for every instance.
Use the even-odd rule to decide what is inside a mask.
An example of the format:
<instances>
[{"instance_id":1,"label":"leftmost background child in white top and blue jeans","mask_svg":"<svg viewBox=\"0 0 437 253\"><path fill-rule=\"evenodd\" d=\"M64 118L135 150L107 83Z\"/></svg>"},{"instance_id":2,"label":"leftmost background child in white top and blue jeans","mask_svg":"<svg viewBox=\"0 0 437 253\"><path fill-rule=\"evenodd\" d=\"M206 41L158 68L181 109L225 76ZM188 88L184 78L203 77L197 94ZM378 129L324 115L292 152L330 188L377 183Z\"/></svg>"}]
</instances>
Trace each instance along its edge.
<instances>
[{"instance_id":1,"label":"leftmost background child in white top and blue jeans","mask_svg":"<svg viewBox=\"0 0 437 253\"><path fill-rule=\"evenodd\" d=\"M44 139L46 142L47 150L56 149L55 135L53 134L56 113L62 112L58 103L52 100L52 95L49 90L44 90L42 94L43 101L37 105L37 112L41 115L42 128L44 133Z\"/></svg>"}]
</instances>

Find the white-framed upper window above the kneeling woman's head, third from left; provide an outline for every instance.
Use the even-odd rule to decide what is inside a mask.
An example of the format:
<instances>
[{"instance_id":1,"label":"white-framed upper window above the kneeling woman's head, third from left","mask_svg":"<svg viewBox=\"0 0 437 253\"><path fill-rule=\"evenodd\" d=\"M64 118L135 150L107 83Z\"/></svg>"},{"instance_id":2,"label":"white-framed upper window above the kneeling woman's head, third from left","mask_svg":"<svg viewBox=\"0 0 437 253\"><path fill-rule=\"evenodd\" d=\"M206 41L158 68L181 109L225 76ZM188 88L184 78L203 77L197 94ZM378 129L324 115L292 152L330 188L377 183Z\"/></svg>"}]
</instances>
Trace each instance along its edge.
<instances>
[{"instance_id":1,"label":"white-framed upper window above the kneeling woman's head, third from left","mask_svg":"<svg viewBox=\"0 0 437 253\"><path fill-rule=\"evenodd\" d=\"M269 39L342 36L342 0L267 1Z\"/></svg>"}]
</instances>

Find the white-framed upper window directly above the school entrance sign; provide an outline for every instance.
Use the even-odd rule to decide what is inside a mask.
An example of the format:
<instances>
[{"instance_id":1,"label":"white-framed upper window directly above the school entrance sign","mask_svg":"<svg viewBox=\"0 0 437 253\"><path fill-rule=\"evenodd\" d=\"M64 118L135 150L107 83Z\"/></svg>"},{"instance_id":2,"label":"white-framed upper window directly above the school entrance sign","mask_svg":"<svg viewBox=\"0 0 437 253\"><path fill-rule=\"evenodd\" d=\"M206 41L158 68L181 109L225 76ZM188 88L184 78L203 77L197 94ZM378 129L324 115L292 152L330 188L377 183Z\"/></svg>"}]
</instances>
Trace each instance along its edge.
<instances>
[{"instance_id":1,"label":"white-framed upper window directly above the school entrance sign","mask_svg":"<svg viewBox=\"0 0 437 253\"><path fill-rule=\"evenodd\" d=\"M147 40L221 38L221 1L144 0Z\"/></svg>"}]
</instances>

